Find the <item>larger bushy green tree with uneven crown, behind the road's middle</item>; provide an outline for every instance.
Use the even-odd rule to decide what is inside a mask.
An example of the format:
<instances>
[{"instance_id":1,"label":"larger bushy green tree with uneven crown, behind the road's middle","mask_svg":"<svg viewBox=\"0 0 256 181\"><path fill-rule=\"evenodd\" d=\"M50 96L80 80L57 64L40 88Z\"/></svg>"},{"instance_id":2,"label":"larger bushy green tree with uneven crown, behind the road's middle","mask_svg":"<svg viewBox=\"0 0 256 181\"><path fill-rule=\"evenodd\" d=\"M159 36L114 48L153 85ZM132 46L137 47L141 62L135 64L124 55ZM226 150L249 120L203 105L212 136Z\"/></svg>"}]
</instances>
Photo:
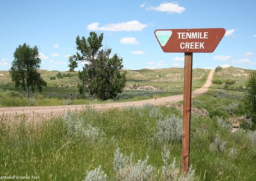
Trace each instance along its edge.
<instances>
[{"instance_id":1,"label":"larger bushy green tree with uneven crown, behind the road's middle","mask_svg":"<svg viewBox=\"0 0 256 181\"><path fill-rule=\"evenodd\" d=\"M77 36L76 55L71 61L83 61L83 71L78 72L81 83L78 85L79 93L84 96L84 92L99 99L115 98L124 89L126 72L122 72L122 58L116 54L112 57L111 49L100 50L102 47L103 34L91 32L86 39L84 36ZM70 61L70 62L71 62Z\"/></svg>"}]
</instances>

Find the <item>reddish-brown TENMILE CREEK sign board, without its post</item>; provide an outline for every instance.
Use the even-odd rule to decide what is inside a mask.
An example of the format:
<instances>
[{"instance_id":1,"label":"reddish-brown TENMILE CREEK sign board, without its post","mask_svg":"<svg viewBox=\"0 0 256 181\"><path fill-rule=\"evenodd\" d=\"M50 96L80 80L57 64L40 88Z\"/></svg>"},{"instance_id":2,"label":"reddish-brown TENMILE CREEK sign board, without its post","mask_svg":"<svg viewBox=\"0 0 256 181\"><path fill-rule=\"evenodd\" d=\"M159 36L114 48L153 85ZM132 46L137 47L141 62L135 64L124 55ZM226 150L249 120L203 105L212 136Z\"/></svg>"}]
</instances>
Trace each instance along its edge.
<instances>
[{"instance_id":1,"label":"reddish-brown TENMILE CREEK sign board, without its post","mask_svg":"<svg viewBox=\"0 0 256 181\"><path fill-rule=\"evenodd\" d=\"M164 52L213 52L225 32L223 28L157 29L155 35Z\"/></svg>"}]
</instances>

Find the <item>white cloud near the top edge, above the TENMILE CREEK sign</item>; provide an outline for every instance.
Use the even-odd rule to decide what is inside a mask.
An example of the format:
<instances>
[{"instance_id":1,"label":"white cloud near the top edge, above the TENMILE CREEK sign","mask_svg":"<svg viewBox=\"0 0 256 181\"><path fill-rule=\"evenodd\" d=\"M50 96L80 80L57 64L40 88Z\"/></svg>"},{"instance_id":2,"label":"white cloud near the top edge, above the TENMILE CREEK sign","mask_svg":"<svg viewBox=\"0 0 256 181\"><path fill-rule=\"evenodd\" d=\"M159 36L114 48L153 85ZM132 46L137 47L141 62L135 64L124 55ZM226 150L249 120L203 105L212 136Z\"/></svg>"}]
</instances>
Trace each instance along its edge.
<instances>
[{"instance_id":1,"label":"white cloud near the top edge, above the TENMILE CREEK sign","mask_svg":"<svg viewBox=\"0 0 256 181\"><path fill-rule=\"evenodd\" d=\"M161 3L159 6L156 7L149 7L147 10L155 10L155 11L161 11L166 13L183 13L185 11L185 8L182 6L179 6L177 2L170 2L170 3Z\"/></svg>"}]
</instances>

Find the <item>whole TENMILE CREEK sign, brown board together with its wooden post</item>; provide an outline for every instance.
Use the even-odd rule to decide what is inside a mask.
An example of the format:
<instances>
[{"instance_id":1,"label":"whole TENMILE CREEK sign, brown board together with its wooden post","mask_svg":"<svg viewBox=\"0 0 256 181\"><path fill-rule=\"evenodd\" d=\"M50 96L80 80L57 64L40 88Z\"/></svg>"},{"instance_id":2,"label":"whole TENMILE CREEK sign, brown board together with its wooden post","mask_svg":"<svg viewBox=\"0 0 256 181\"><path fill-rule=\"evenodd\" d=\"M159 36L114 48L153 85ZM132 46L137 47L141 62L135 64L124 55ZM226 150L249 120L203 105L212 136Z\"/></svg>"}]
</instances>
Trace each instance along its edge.
<instances>
[{"instance_id":1,"label":"whole TENMILE CREEK sign, brown board together with its wooden post","mask_svg":"<svg viewBox=\"0 0 256 181\"><path fill-rule=\"evenodd\" d=\"M189 171L193 52L213 52L225 32L223 28L158 29L155 31L155 36L163 52L184 52L185 54L181 150L182 175Z\"/></svg>"}]
</instances>

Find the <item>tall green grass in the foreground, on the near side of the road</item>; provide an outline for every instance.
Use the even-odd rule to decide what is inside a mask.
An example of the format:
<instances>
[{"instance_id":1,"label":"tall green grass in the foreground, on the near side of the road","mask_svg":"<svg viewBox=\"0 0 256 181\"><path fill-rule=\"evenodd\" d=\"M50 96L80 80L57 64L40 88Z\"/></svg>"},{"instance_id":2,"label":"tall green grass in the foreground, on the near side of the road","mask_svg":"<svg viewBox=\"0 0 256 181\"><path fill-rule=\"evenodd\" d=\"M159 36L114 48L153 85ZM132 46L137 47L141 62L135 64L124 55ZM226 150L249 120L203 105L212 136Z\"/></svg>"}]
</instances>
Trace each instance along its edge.
<instances>
[{"instance_id":1,"label":"tall green grass in the foreground, on the near side of the road","mask_svg":"<svg viewBox=\"0 0 256 181\"><path fill-rule=\"evenodd\" d=\"M170 150L169 168L175 160L180 174L180 139L159 140L166 134L164 130L170 131L169 135L179 132L168 129L168 125L175 124L168 122L172 117L179 120L182 115L175 107L152 105L106 112L67 112L40 123L26 122L25 116L18 115L10 122L7 115L1 115L0 173L35 175L41 180L83 180L95 170L104 171L108 180L117 180L113 163L119 148L119 154L130 156L126 165L131 170L132 166L152 166L154 174L150 178L163 180L163 166L167 165L164 147ZM192 117L190 157L195 180L253 180L255 132L231 133L223 125L216 118Z\"/></svg>"}]
</instances>

